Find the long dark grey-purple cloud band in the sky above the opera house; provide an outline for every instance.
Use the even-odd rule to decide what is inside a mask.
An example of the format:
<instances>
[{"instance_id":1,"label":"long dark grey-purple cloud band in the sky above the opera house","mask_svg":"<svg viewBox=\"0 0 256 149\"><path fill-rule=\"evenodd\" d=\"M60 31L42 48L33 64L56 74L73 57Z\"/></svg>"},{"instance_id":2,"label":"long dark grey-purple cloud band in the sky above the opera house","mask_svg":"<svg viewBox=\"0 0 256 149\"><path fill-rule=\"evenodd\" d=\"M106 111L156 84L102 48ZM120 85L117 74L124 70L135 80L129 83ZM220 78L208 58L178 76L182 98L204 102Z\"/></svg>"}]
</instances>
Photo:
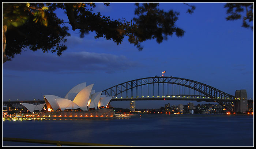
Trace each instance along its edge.
<instances>
[{"instance_id":1,"label":"long dark grey-purple cloud band in the sky above the opera house","mask_svg":"<svg viewBox=\"0 0 256 149\"><path fill-rule=\"evenodd\" d=\"M15 71L42 72L92 72L105 71L107 73L139 67L140 64L106 53L70 52L56 56L52 53L38 54L33 52L17 55L12 61L3 64L3 69Z\"/></svg>"}]
</instances>

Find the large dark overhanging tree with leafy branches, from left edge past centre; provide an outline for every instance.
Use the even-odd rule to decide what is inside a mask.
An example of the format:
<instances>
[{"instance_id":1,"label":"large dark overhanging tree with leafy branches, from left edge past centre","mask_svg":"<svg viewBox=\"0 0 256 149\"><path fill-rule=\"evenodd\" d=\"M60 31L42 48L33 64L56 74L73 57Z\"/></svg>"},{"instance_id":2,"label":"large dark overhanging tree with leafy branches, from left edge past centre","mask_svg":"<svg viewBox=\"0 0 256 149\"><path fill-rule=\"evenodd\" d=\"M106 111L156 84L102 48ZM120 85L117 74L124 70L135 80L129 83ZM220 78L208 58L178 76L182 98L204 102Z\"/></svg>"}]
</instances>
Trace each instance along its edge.
<instances>
[{"instance_id":1,"label":"large dark overhanging tree with leafy branches, from left edge past centre","mask_svg":"<svg viewBox=\"0 0 256 149\"><path fill-rule=\"evenodd\" d=\"M110 5L104 4L106 7ZM54 13L57 8L65 10L72 30L79 29L81 38L95 32L95 39L104 37L118 45L127 36L129 43L140 51L143 49L140 43L148 39L161 43L173 34L182 37L185 31L175 25L179 13L172 10L164 12L158 6L158 3L142 3L141 6L136 3L137 17L126 21L112 20L100 12L94 13L95 3L3 3L3 57L5 53L7 59L11 60L25 48L57 52L60 56L67 49L61 43L70 34L63 20ZM195 7L188 6L191 7L188 13L192 13Z\"/></svg>"}]
</instances>

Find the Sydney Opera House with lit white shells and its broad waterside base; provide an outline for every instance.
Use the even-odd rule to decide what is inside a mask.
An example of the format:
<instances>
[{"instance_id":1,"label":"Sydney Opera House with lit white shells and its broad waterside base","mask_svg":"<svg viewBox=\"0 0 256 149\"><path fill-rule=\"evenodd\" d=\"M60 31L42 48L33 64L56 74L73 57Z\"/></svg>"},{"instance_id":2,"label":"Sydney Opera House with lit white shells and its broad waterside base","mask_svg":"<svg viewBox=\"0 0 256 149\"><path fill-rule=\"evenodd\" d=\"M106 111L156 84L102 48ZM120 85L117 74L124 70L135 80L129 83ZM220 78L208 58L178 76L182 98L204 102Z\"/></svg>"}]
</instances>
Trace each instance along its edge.
<instances>
[{"instance_id":1,"label":"Sydney Opera House with lit white shells and its broad waterside base","mask_svg":"<svg viewBox=\"0 0 256 149\"><path fill-rule=\"evenodd\" d=\"M101 95L102 92L95 93L95 90L92 90L93 85L86 86L86 82L78 84L69 90L64 98L44 95L47 110L32 117L46 119L113 117L113 108L108 106L112 96ZM31 113L35 110L41 111L45 104L22 103Z\"/></svg>"}]
</instances>

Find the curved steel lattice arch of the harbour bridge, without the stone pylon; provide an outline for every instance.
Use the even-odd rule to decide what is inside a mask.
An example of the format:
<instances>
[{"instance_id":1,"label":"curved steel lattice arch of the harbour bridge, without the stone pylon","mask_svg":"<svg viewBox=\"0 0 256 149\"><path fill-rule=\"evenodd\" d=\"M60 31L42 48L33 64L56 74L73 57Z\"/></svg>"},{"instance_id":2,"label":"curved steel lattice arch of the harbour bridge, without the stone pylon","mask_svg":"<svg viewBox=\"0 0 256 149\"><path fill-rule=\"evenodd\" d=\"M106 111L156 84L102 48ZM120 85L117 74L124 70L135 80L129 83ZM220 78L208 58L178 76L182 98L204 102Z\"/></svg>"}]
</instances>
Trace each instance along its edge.
<instances>
[{"instance_id":1,"label":"curved steel lattice arch of the harbour bridge, without the stone pylon","mask_svg":"<svg viewBox=\"0 0 256 149\"><path fill-rule=\"evenodd\" d=\"M133 97L133 93L136 94L136 96ZM149 97L151 100L153 100L153 98L156 100L157 98L167 97L168 95L173 96L174 94L176 96L198 96L201 94L201 96L211 98L229 109L231 109L231 101L234 100L233 95L227 94L210 85L194 80L172 76L155 76L127 81L103 90L102 94L106 96L113 96L112 100L115 101L118 99L122 100L121 98L123 98L124 94L126 95L126 98L131 95L131 100L138 100L136 98L139 97L139 94L141 97L144 97L145 99ZM121 98L118 98L119 95ZM202 101L204 100L202 99Z\"/></svg>"}]
</instances>

